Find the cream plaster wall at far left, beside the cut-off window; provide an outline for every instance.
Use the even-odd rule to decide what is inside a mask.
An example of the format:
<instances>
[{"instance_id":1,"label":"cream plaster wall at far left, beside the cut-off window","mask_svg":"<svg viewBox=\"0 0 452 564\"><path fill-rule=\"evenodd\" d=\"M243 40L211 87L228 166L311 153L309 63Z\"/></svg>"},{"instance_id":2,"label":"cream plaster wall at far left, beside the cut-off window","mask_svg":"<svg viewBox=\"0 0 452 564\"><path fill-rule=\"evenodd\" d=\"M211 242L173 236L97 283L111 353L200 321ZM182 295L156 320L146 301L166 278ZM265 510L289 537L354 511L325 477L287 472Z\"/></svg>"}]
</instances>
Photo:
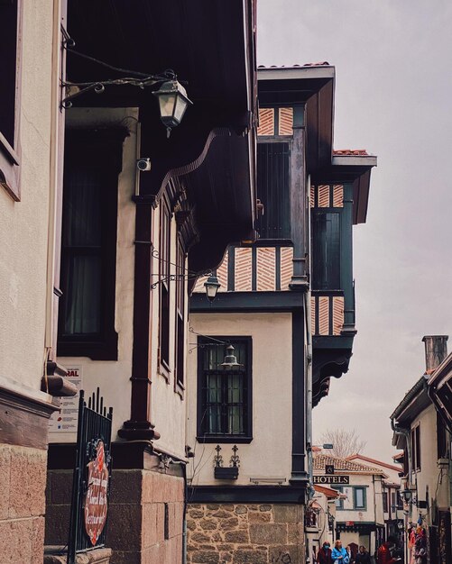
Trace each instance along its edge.
<instances>
[{"instance_id":1,"label":"cream plaster wall at far left, beside the cut-off window","mask_svg":"<svg viewBox=\"0 0 452 564\"><path fill-rule=\"evenodd\" d=\"M23 2L22 201L0 187L0 376L40 389L51 161L53 2Z\"/></svg>"}]
</instances>

